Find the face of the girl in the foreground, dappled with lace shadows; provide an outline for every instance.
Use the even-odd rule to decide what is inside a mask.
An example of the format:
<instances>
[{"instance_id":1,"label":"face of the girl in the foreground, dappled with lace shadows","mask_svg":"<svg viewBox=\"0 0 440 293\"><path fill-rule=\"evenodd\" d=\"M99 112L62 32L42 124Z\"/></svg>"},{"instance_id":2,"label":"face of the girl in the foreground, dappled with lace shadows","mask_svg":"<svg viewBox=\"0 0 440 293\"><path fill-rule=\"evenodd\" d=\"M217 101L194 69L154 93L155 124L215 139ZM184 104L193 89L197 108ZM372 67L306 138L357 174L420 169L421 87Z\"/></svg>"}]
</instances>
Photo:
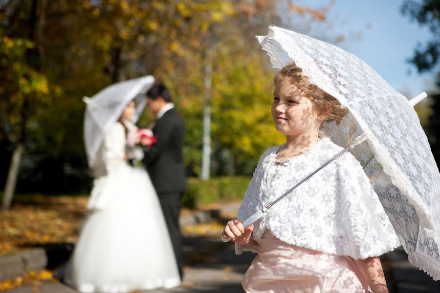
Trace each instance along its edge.
<instances>
[{"instance_id":1,"label":"face of the girl in the foreground, dappled with lace shadows","mask_svg":"<svg viewBox=\"0 0 440 293\"><path fill-rule=\"evenodd\" d=\"M279 132L293 137L318 131L322 122L314 103L288 78L275 85L272 118Z\"/></svg>"}]
</instances>

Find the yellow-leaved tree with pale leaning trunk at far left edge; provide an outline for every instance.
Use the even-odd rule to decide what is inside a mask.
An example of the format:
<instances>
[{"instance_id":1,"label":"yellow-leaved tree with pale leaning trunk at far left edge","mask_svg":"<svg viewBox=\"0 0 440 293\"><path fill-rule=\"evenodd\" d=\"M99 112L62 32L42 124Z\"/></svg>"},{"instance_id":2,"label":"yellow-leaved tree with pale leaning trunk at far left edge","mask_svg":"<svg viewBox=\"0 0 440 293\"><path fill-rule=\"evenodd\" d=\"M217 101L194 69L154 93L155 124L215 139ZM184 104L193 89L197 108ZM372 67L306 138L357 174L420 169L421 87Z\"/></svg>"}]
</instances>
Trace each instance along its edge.
<instances>
[{"instance_id":1,"label":"yellow-leaved tree with pale leaning trunk at far left edge","mask_svg":"<svg viewBox=\"0 0 440 293\"><path fill-rule=\"evenodd\" d=\"M39 72L39 55L33 42L37 23L36 2L28 3L29 16L22 36L9 38L0 31L2 134L13 148L1 206L3 210L8 209L12 201L28 131L36 121L38 111L50 101L48 81ZM5 12L2 11L2 14Z\"/></svg>"}]
</instances>

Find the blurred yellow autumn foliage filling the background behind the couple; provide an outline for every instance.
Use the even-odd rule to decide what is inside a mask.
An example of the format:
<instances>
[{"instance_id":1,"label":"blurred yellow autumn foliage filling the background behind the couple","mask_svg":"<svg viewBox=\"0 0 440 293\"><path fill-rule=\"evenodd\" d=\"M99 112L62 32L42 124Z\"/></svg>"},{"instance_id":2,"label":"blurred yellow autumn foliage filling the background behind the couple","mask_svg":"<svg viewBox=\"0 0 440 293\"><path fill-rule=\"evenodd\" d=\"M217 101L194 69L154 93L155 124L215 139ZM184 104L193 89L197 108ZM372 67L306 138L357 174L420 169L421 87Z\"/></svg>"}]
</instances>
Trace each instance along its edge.
<instances>
[{"instance_id":1,"label":"blurred yellow autumn foliage filling the background behind the couple","mask_svg":"<svg viewBox=\"0 0 440 293\"><path fill-rule=\"evenodd\" d=\"M1 1L2 145L30 162L21 165L26 186L84 186L81 98L153 74L172 89L185 120L185 163L199 174L209 94L213 171L249 173L262 150L280 142L267 110L273 73L254 36L292 16L324 21L325 11L276 0Z\"/></svg>"}]
</instances>

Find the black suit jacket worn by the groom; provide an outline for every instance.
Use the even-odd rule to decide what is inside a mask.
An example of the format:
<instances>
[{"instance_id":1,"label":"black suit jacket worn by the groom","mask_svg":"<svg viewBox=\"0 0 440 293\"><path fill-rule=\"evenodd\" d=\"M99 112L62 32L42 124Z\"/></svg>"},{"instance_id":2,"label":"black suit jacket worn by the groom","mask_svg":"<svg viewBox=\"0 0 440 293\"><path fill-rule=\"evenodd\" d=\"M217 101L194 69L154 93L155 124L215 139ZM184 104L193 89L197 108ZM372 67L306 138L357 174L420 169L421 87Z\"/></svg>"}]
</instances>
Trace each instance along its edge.
<instances>
[{"instance_id":1,"label":"black suit jacket worn by the groom","mask_svg":"<svg viewBox=\"0 0 440 293\"><path fill-rule=\"evenodd\" d=\"M145 150L143 162L156 192L185 191L187 184L182 155L185 126L175 108L157 119L153 133L157 142Z\"/></svg>"}]
</instances>

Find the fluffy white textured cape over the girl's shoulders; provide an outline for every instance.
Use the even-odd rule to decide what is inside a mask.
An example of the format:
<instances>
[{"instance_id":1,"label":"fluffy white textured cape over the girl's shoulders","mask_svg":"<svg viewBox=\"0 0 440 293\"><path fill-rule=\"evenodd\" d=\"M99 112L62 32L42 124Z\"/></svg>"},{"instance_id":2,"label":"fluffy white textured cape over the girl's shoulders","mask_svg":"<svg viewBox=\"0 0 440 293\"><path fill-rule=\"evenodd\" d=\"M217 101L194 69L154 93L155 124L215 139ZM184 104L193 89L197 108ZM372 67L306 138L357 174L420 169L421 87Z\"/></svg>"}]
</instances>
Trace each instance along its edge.
<instances>
[{"instance_id":1,"label":"fluffy white textured cape over the girl's shoulders","mask_svg":"<svg viewBox=\"0 0 440 293\"><path fill-rule=\"evenodd\" d=\"M342 150L323 138L305 153L273 164L282 146L261 156L244 194L238 217L246 219L263 209L311 171ZM354 259L379 256L400 245L369 178L359 162L345 153L284 199L254 224L253 238L264 230L292 245ZM236 253L256 252L255 247L236 244Z\"/></svg>"}]
</instances>

